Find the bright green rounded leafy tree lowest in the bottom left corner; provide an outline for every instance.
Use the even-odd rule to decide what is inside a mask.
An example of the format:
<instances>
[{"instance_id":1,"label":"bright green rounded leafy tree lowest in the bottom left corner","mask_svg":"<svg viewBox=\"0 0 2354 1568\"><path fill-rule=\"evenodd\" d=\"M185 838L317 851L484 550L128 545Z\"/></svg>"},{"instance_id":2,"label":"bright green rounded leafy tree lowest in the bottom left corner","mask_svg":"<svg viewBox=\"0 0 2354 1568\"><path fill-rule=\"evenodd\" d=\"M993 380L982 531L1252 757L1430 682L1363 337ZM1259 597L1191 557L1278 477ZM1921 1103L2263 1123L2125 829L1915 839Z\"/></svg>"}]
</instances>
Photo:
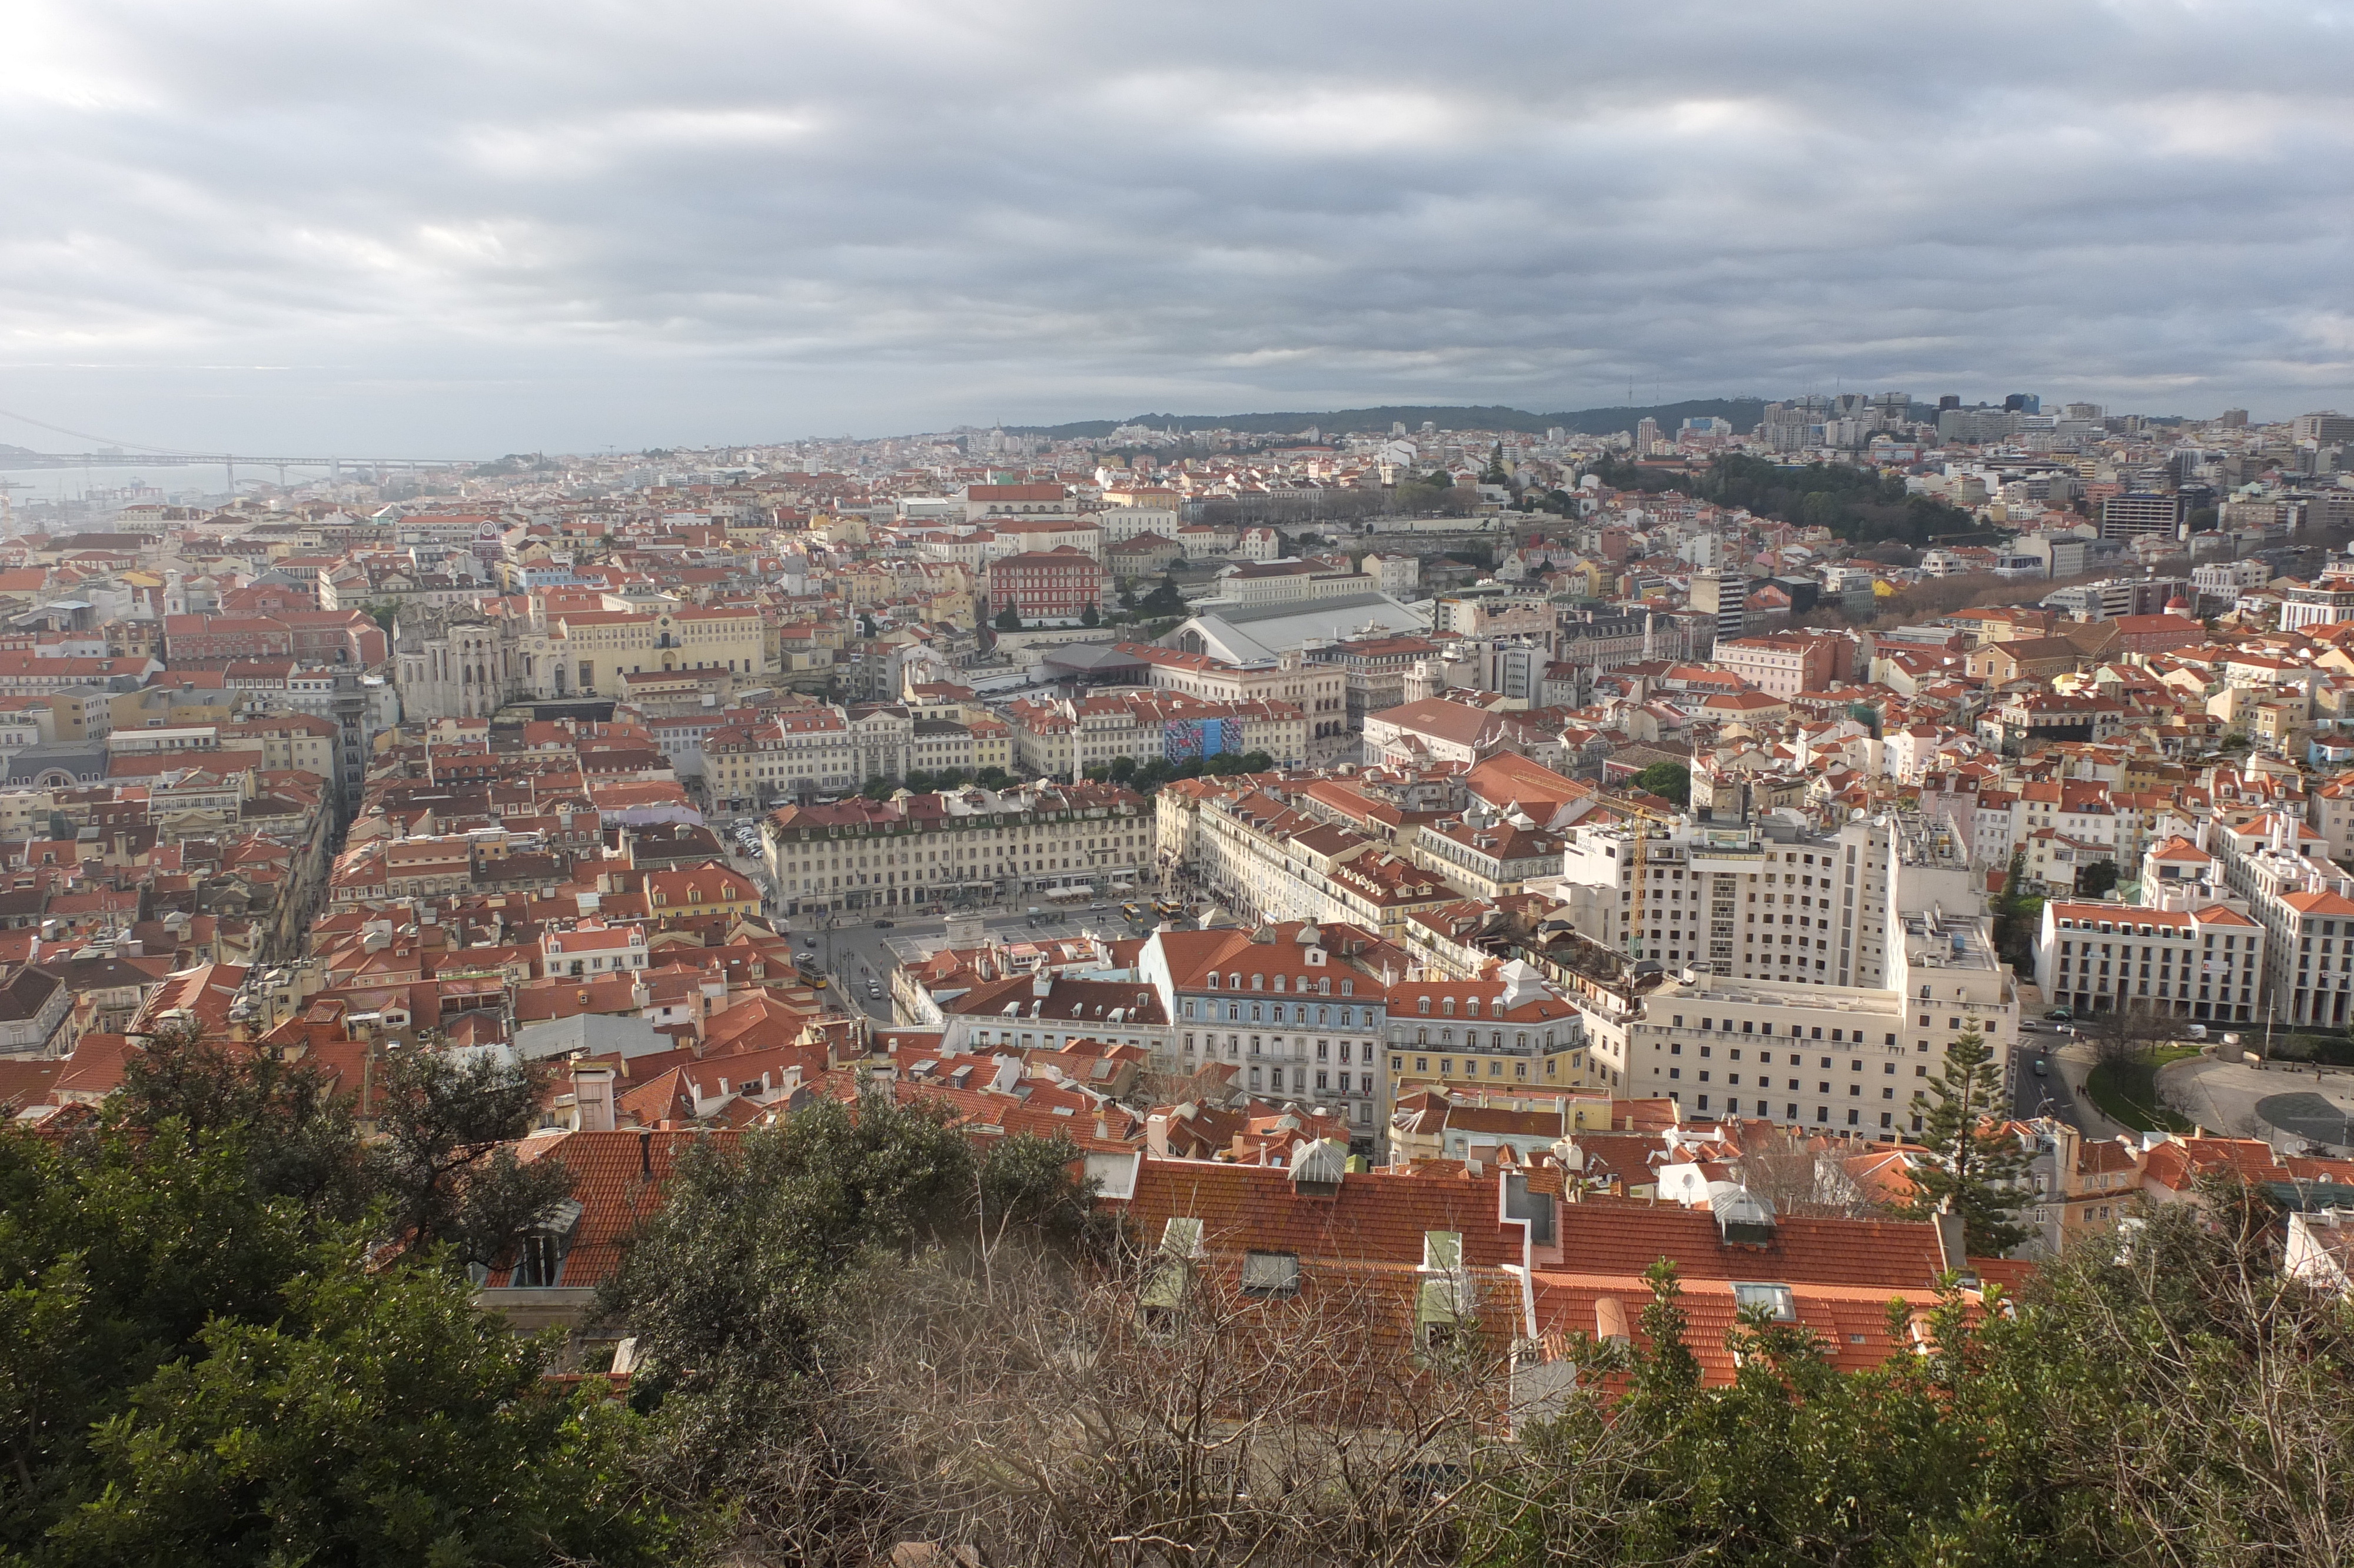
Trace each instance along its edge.
<instances>
[{"instance_id":1,"label":"bright green rounded leafy tree lowest in the bottom left corner","mask_svg":"<svg viewBox=\"0 0 2354 1568\"><path fill-rule=\"evenodd\" d=\"M313 1253L266 1323L212 1318L89 1439L54 1563L659 1563L636 1417L548 1384L548 1344L443 1269Z\"/></svg>"}]
</instances>

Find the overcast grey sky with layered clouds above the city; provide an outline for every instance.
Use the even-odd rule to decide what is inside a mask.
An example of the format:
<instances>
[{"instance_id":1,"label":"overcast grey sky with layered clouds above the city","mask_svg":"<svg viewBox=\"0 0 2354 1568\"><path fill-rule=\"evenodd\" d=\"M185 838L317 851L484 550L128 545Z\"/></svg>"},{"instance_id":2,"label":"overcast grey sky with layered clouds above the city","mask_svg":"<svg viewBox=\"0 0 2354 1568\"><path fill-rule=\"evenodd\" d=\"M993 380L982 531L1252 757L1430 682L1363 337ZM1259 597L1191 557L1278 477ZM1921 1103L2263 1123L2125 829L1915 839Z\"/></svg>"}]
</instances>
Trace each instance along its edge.
<instances>
[{"instance_id":1,"label":"overcast grey sky with layered clouds above the city","mask_svg":"<svg viewBox=\"0 0 2354 1568\"><path fill-rule=\"evenodd\" d=\"M0 410L471 457L2354 407L2349 59L2345 0L12 0Z\"/></svg>"}]
</instances>

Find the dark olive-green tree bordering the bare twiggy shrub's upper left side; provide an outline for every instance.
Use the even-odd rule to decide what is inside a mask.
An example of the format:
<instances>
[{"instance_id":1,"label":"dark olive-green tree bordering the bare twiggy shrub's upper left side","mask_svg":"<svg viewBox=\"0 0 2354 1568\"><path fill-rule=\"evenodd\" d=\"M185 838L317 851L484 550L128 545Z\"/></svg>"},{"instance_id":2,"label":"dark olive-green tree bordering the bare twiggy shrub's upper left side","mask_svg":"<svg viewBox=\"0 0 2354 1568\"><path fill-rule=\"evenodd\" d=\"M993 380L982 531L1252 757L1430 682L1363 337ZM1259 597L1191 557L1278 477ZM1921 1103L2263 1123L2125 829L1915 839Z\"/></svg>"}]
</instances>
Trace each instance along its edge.
<instances>
[{"instance_id":1,"label":"dark olive-green tree bordering the bare twiggy shrub's upper left side","mask_svg":"<svg viewBox=\"0 0 2354 1568\"><path fill-rule=\"evenodd\" d=\"M925 1248L986 1278L1000 1245L1085 1238L1073 1161L1033 1137L977 1154L944 1107L883 1095L692 1149L600 1297L650 1363L633 1401L657 1417L661 1483L751 1497L749 1535L838 1540L829 1552L864 1561L873 1455L829 1403L831 1335L878 1288L873 1269Z\"/></svg>"}]
</instances>

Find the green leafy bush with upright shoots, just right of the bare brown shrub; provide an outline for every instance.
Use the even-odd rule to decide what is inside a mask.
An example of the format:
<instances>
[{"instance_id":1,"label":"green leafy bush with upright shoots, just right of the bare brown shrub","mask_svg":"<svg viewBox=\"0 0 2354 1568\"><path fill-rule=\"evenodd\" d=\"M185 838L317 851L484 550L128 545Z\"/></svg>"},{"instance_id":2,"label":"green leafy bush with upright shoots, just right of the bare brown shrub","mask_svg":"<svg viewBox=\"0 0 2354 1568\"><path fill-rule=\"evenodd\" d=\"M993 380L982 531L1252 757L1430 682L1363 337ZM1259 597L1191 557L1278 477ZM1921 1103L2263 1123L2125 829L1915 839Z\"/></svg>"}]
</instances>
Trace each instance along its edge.
<instances>
[{"instance_id":1,"label":"green leafy bush with upright shoots, just right of the bare brown shrub","mask_svg":"<svg viewBox=\"0 0 2354 1568\"><path fill-rule=\"evenodd\" d=\"M2043 1483L2020 1328L1959 1285L1919 1328L1893 1307L1886 1358L1841 1373L1831 1347L1770 1309L1728 1330L1728 1387L1707 1387L1674 1267L1653 1269L1641 1335L1572 1335L1580 1387L1492 1450L1467 1497L1459 1561L1537 1563L2090 1563Z\"/></svg>"}]
</instances>

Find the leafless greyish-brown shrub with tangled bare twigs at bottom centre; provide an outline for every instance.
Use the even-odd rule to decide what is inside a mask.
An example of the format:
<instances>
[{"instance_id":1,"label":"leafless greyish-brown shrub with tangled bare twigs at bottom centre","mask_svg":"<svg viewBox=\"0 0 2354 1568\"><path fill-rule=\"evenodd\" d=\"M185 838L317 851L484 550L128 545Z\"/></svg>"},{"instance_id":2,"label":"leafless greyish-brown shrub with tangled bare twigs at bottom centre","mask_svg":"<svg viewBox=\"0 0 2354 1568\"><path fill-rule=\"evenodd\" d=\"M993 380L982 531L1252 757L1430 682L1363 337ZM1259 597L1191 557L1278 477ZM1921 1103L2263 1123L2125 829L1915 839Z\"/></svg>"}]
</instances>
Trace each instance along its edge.
<instances>
[{"instance_id":1,"label":"leafless greyish-brown shrub with tangled bare twigs at bottom centre","mask_svg":"<svg viewBox=\"0 0 2354 1568\"><path fill-rule=\"evenodd\" d=\"M970 1264L932 1250L847 1293L812 1439L763 1467L737 1561L855 1563L890 1540L998 1568L1455 1561L1509 1375L1490 1333L1417 1349L1412 1269L1304 1260L1297 1295L1257 1297L1201 1262L1163 1309L1139 1297L1165 1260Z\"/></svg>"}]
</instances>

